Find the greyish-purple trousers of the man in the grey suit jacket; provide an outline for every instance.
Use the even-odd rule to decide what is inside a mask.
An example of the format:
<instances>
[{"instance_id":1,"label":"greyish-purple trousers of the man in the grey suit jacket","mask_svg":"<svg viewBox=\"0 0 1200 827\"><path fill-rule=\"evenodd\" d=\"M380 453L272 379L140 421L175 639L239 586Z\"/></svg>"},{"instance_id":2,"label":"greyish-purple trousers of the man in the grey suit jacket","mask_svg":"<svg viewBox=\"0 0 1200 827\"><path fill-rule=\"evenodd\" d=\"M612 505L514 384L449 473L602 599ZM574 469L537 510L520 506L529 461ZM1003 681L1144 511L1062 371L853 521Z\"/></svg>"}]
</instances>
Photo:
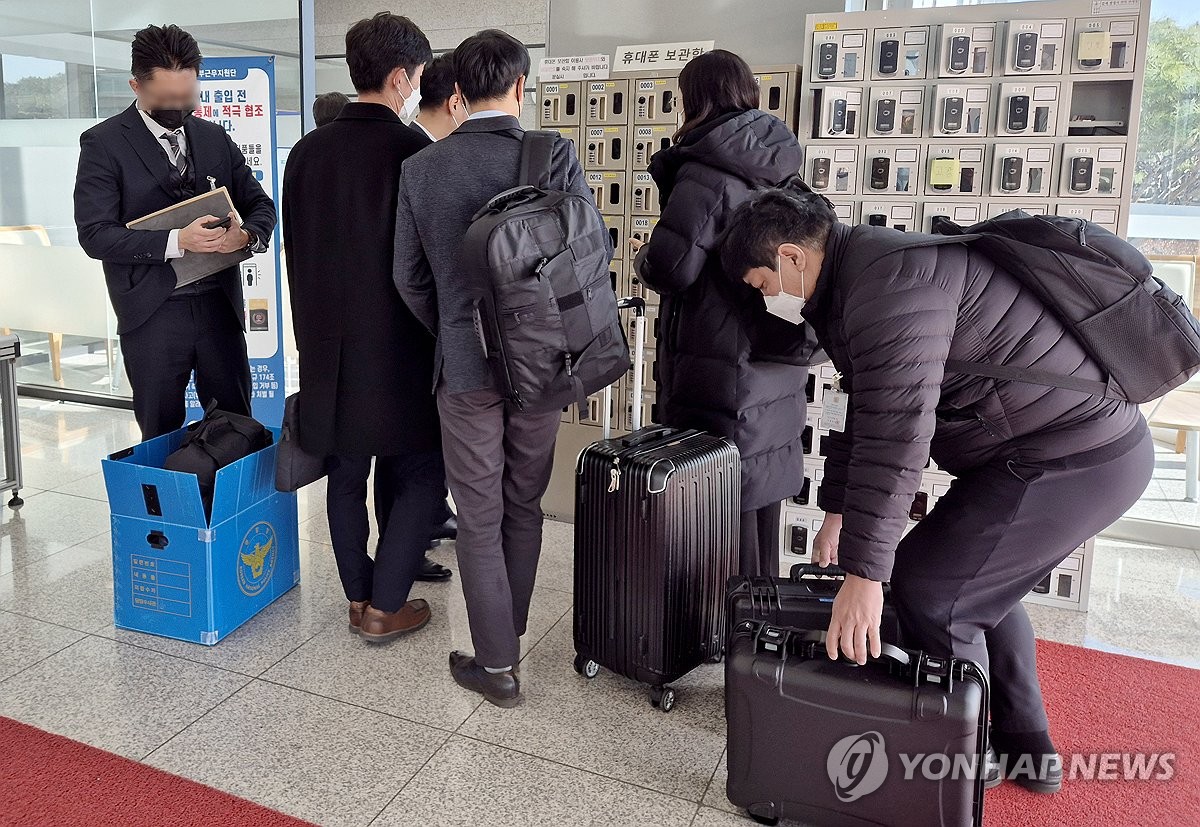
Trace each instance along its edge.
<instances>
[{"instance_id":1,"label":"greyish-purple trousers of the man in the grey suit jacket","mask_svg":"<svg viewBox=\"0 0 1200 827\"><path fill-rule=\"evenodd\" d=\"M446 479L458 507L458 571L475 660L503 669L521 636L541 556L541 497L562 413L524 414L492 390L438 391Z\"/></svg>"}]
</instances>

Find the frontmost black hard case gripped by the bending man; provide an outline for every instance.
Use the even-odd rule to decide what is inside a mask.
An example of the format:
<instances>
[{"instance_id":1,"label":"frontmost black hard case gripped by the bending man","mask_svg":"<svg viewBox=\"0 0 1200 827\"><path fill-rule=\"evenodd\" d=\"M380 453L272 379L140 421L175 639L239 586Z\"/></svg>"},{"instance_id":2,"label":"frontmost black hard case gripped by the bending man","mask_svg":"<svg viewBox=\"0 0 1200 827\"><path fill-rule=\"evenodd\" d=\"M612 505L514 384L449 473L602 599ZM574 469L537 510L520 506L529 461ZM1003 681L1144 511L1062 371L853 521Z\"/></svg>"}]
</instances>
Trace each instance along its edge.
<instances>
[{"instance_id":1,"label":"frontmost black hard case gripped by the bending man","mask_svg":"<svg viewBox=\"0 0 1200 827\"><path fill-rule=\"evenodd\" d=\"M888 646L832 661L824 634L755 621L725 661L731 802L761 823L978 827L988 679L968 660Z\"/></svg>"}]
</instances>

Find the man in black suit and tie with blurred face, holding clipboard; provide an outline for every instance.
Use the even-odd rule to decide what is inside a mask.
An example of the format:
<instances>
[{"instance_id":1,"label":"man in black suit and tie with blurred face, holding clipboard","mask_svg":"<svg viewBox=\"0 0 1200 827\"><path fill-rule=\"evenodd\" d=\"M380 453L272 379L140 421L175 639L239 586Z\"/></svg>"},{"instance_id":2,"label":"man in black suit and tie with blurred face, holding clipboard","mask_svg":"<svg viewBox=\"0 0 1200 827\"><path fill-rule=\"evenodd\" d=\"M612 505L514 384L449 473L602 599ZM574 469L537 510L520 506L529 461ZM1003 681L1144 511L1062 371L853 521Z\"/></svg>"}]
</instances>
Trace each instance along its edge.
<instances>
[{"instance_id":1,"label":"man in black suit and tie with blurred face, holding clipboard","mask_svg":"<svg viewBox=\"0 0 1200 827\"><path fill-rule=\"evenodd\" d=\"M200 49L175 25L133 37L137 101L79 138L74 212L79 245L103 262L116 312L133 413L150 439L184 424L187 380L196 372L202 404L216 401L248 414L250 365L236 266L175 287L170 260L242 248L264 252L275 230L271 203L246 158L218 125L193 118ZM226 186L245 224L205 229L224 216L203 216L176 230L125 224Z\"/></svg>"}]
</instances>

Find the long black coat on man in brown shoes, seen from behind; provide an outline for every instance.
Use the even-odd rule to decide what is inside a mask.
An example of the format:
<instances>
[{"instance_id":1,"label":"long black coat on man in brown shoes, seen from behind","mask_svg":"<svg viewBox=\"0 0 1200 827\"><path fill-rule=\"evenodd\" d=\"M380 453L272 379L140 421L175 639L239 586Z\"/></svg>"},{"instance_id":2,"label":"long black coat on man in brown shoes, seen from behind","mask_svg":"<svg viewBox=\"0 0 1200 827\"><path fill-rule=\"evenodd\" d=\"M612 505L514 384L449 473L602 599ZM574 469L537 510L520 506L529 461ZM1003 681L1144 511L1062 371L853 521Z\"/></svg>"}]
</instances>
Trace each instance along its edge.
<instances>
[{"instance_id":1,"label":"long black coat on man in brown shoes, seen from behind","mask_svg":"<svg viewBox=\"0 0 1200 827\"><path fill-rule=\"evenodd\" d=\"M400 168L427 144L386 107L347 103L288 156L283 250L307 451L391 456L440 447L433 336L391 276Z\"/></svg>"}]
</instances>

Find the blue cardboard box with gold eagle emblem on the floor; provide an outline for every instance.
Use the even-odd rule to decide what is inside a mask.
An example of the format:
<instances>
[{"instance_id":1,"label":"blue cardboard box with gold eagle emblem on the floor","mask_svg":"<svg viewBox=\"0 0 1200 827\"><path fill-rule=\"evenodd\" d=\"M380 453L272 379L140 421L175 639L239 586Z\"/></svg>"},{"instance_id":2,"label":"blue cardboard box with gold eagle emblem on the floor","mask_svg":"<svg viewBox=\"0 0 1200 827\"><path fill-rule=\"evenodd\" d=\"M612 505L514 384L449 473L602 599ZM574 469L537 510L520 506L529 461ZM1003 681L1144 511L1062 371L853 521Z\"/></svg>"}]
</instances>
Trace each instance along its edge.
<instances>
[{"instance_id":1,"label":"blue cardboard box with gold eagle emblem on the floor","mask_svg":"<svg viewBox=\"0 0 1200 827\"><path fill-rule=\"evenodd\" d=\"M103 462L113 615L121 629L212 646L300 582L296 496L275 490L271 445L217 472L206 517L196 475L162 467L186 432Z\"/></svg>"}]
</instances>

